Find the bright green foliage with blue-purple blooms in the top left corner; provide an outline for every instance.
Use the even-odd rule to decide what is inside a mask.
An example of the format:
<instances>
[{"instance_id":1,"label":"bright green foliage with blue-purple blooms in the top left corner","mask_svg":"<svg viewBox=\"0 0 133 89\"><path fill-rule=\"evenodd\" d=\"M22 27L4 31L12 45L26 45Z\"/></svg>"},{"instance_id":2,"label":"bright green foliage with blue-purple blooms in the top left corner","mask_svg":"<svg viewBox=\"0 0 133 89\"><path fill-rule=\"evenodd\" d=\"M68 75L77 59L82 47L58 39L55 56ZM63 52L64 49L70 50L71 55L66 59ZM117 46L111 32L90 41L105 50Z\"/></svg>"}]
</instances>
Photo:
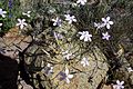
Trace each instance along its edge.
<instances>
[{"instance_id":1,"label":"bright green foliage with blue-purple blooms in the top left corner","mask_svg":"<svg viewBox=\"0 0 133 89\"><path fill-rule=\"evenodd\" d=\"M19 0L11 1L12 1L11 3L9 2L9 0L0 1L0 8L7 11L6 18L0 17L0 22L3 23L3 26L1 27L0 36L8 32L10 28L16 27L18 18L27 19L27 22L31 22L31 20L34 17L33 14L31 14L31 18L22 16L22 10L20 9Z\"/></svg>"}]
</instances>

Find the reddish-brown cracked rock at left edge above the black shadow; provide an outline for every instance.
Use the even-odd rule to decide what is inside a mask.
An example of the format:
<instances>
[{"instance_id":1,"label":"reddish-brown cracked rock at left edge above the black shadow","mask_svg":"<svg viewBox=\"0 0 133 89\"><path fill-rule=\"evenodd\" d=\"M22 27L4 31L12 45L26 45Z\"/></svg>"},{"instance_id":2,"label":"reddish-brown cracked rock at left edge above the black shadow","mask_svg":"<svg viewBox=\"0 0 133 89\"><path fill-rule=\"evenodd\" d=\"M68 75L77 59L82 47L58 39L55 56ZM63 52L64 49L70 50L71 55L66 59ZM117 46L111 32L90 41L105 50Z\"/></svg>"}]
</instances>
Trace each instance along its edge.
<instances>
[{"instance_id":1,"label":"reddish-brown cracked rock at left edge above the black shadow","mask_svg":"<svg viewBox=\"0 0 133 89\"><path fill-rule=\"evenodd\" d=\"M18 27L10 29L0 38L0 49L2 55L16 59L19 51L23 51L32 41L30 36L23 36Z\"/></svg>"}]
</instances>

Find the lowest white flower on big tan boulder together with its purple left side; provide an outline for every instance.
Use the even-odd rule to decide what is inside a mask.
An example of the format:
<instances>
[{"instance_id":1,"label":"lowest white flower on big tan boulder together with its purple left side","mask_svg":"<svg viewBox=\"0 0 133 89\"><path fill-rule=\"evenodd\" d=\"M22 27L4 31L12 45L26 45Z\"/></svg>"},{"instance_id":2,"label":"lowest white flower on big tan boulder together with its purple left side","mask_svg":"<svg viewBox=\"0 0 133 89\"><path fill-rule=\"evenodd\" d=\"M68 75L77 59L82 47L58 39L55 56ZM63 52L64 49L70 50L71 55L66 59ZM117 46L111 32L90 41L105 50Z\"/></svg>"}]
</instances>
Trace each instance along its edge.
<instances>
[{"instance_id":1,"label":"lowest white flower on big tan boulder together with its purple left side","mask_svg":"<svg viewBox=\"0 0 133 89\"><path fill-rule=\"evenodd\" d=\"M61 72L60 72L60 76L61 76L60 80L65 80L66 83L70 83L70 79L73 78L73 75L70 75L70 73L69 73L69 69L68 69L68 68L65 68L65 71L64 71L64 72L61 71Z\"/></svg>"}]
</instances>

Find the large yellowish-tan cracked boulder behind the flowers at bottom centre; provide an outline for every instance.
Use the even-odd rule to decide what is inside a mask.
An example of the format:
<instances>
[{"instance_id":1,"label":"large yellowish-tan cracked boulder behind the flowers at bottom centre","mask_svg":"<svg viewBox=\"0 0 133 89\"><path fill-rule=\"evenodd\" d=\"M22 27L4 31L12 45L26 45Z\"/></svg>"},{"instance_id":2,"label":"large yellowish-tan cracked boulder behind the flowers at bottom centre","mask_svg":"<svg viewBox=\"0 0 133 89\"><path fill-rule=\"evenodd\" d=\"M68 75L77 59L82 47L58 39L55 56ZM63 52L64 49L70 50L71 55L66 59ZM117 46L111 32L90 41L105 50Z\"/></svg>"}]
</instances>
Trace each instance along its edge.
<instances>
[{"instance_id":1,"label":"large yellowish-tan cracked boulder behind the flowers at bottom centre","mask_svg":"<svg viewBox=\"0 0 133 89\"><path fill-rule=\"evenodd\" d=\"M24 59L29 71L35 72L34 78L39 75L41 77L41 85L47 89L51 87L53 89L55 87L58 89L96 89L109 70L108 63L105 62L105 56L98 47L93 47L90 51L85 52L86 49L80 49L79 41L69 42L72 39L52 40L51 38L54 39L54 37L47 36L47 31L49 32L49 30L50 28L38 34L35 37L37 42L34 42L25 52ZM55 31L63 32L68 38L71 38L75 33L75 28L64 23L61 28L57 28ZM41 39L45 40L45 43ZM50 42L47 41L48 39ZM58 42L58 46L55 42ZM62 55L62 51L65 50L69 50L69 52L72 53L70 60L66 60ZM83 57L88 58L89 66L86 67L81 65L81 59ZM47 63L52 65L52 75L44 73L44 71L40 72L47 67ZM71 83L60 81L60 72L64 71L65 67L74 75ZM45 80L49 81L45 82ZM38 83L39 82L34 80L37 88L39 87Z\"/></svg>"}]
</instances>

